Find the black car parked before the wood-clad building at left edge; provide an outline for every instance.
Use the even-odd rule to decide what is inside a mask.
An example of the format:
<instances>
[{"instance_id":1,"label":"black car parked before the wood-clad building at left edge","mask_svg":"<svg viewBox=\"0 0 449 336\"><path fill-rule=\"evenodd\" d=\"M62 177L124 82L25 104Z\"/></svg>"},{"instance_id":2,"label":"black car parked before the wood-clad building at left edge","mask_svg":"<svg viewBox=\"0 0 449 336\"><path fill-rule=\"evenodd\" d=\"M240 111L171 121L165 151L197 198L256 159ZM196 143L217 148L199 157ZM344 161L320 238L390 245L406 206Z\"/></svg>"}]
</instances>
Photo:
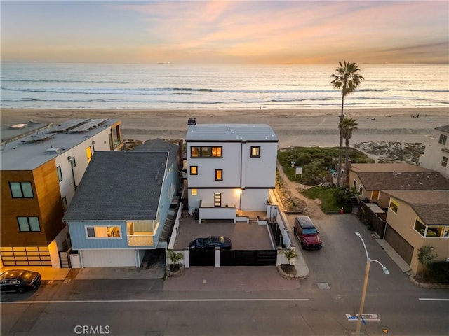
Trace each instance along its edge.
<instances>
[{"instance_id":1,"label":"black car parked before the wood-clad building at left edge","mask_svg":"<svg viewBox=\"0 0 449 336\"><path fill-rule=\"evenodd\" d=\"M41 274L25 271L24 269L10 269L1 273L1 291L23 293L36 289L41 283Z\"/></svg>"}]
</instances>

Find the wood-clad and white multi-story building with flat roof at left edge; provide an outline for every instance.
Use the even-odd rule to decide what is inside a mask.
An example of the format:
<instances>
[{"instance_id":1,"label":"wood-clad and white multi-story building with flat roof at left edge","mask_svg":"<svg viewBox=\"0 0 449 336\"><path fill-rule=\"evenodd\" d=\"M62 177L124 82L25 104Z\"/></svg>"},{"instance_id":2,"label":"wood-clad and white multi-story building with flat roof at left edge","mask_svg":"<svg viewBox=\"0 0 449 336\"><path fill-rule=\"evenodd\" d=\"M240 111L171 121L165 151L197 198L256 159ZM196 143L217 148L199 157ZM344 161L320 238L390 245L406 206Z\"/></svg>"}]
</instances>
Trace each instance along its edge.
<instances>
[{"instance_id":1,"label":"wood-clad and white multi-story building with flat roof at left edge","mask_svg":"<svg viewBox=\"0 0 449 336\"><path fill-rule=\"evenodd\" d=\"M123 146L120 120L1 127L1 264L70 267L62 221L96 151Z\"/></svg>"}]
</instances>

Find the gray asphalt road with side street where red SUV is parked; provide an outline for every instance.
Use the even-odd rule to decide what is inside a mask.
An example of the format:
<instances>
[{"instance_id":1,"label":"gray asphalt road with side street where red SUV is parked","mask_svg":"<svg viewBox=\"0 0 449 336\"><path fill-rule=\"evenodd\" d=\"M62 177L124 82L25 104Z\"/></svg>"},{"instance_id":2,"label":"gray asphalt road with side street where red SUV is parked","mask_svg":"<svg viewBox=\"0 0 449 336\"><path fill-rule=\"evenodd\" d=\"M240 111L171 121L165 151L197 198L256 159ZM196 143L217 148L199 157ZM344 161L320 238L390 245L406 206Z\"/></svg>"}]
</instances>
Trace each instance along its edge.
<instances>
[{"instance_id":1,"label":"gray asphalt road with side street where red SUV is parked","mask_svg":"<svg viewBox=\"0 0 449 336\"><path fill-rule=\"evenodd\" d=\"M410 283L355 216L316 225L323 248L304 251L310 275L299 289L194 292L164 291L157 279L55 281L34 293L2 294L1 335L351 335L366 266L356 231L370 258L390 271L371 264L366 335L449 335L449 290Z\"/></svg>"}]
</instances>

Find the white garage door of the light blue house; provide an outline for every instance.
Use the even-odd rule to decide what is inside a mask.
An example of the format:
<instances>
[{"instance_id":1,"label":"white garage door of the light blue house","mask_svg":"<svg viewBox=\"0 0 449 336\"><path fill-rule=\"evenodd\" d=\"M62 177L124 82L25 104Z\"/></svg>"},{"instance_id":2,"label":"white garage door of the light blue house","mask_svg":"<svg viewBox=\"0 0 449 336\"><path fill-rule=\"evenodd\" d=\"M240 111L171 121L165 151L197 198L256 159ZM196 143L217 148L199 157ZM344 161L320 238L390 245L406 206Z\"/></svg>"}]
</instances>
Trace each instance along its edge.
<instances>
[{"instance_id":1,"label":"white garage door of the light blue house","mask_svg":"<svg viewBox=\"0 0 449 336\"><path fill-rule=\"evenodd\" d=\"M135 250L81 250L84 267L135 267Z\"/></svg>"}]
</instances>

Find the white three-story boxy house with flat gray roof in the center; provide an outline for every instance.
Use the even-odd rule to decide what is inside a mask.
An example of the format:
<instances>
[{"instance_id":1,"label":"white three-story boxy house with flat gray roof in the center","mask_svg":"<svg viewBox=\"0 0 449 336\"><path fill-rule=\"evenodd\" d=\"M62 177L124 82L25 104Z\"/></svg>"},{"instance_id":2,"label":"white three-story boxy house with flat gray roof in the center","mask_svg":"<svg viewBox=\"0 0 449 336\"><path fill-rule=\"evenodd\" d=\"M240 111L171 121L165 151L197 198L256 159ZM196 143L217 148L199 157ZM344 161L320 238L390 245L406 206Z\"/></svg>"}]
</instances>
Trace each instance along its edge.
<instances>
[{"instance_id":1,"label":"white three-story boxy house with flat gray roof in the center","mask_svg":"<svg viewBox=\"0 0 449 336\"><path fill-rule=\"evenodd\" d=\"M185 137L189 214L232 219L266 211L275 188L278 138L264 124L196 124Z\"/></svg>"}]
</instances>

